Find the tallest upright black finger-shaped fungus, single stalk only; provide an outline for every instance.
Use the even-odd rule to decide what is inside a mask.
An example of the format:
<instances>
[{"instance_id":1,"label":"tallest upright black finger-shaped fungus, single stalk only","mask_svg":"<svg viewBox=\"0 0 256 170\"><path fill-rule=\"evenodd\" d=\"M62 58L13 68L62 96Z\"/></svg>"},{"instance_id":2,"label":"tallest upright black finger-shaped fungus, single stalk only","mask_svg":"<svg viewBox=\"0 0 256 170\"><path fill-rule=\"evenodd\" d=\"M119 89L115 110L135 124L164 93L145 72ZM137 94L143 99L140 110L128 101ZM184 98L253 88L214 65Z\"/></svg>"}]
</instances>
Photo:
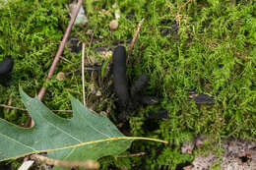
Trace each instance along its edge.
<instances>
[{"instance_id":1,"label":"tallest upright black finger-shaped fungus, single stalk only","mask_svg":"<svg viewBox=\"0 0 256 170\"><path fill-rule=\"evenodd\" d=\"M123 46L114 49L113 57L113 83L121 109L127 109L130 102L129 86L126 76L126 51Z\"/></svg>"}]
</instances>

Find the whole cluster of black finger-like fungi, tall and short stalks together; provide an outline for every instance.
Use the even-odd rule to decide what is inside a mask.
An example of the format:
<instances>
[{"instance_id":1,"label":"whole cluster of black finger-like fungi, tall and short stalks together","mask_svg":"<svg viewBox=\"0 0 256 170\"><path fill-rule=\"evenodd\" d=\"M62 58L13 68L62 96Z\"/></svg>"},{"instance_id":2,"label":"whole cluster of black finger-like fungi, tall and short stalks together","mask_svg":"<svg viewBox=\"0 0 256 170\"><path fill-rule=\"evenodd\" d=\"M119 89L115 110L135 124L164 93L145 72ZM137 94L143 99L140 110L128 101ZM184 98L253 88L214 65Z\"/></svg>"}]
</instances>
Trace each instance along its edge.
<instances>
[{"instance_id":1,"label":"whole cluster of black finger-like fungi, tall and short stalks together","mask_svg":"<svg viewBox=\"0 0 256 170\"><path fill-rule=\"evenodd\" d=\"M131 88L129 87L126 75L126 51L123 46L117 46L114 49L112 73L114 91L118 98L118 118L120 121L124 121L127 116L132 115L132 111L137 109L140 104L159 104L158 97L142 94L143 89L149 82L147 75L140 76Z\"/></svg>"}]
</instances>

